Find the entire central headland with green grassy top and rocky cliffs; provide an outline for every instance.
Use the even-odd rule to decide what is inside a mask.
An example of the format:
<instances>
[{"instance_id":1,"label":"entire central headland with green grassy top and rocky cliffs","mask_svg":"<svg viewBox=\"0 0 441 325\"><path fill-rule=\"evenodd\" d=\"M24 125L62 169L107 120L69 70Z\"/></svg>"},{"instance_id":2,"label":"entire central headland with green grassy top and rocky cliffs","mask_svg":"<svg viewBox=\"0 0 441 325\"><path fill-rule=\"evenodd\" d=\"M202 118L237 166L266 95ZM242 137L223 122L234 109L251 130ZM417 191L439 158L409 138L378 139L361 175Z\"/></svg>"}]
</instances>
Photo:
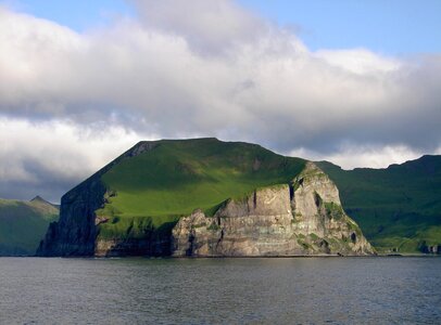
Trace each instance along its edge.
<instances>
[{"instance_id":1,"label":"entire central headland with green grassy top and rocky cliffs","mask_svg":"<svg viewBox=\"0 0 441 325\"><path fill-rule=\"evenodd\" d=\"M38 253L371 253L335 184L308 164L217 139L140 142L62 197L60 222ZM313 172L303 190L293 180L306 166ZM285 204L270 208L273 202ZM177 225L196 210L203 222ZM173 237L176 226L186 231ZM198 239L196 230L203 231ZM182 240L192 244L182 249Z\"/></svg>"}]
</instances>

